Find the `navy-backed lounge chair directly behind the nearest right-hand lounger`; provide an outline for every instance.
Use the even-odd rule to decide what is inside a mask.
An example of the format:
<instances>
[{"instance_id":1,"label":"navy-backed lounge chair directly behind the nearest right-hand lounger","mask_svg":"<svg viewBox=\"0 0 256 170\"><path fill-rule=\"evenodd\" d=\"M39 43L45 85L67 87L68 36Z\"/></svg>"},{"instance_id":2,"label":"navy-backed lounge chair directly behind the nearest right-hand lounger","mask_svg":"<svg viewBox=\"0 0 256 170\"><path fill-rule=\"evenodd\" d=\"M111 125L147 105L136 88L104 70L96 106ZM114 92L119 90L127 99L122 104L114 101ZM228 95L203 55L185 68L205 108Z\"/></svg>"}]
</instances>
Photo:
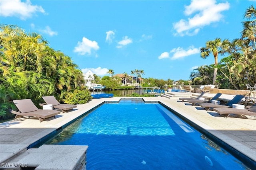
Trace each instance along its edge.
<instances>
[{"instance_id":1,"label":"navy-backed lounge chair directly behind the nearest right-hand lounger","mask_svg":"<svg viewBox=\"0 0 256 170\"><path fill-rule=\"evenodd\" d=\"M238 104L244 98L244 95L236 95L232 100L230 100L227 104L221 105L221 104L214 104L214 103L202 103L199 104L199 106L203 107L207 111L210 108L215 108L215 107L232 107L233 104Z\"/></svg>"}]
</instances>

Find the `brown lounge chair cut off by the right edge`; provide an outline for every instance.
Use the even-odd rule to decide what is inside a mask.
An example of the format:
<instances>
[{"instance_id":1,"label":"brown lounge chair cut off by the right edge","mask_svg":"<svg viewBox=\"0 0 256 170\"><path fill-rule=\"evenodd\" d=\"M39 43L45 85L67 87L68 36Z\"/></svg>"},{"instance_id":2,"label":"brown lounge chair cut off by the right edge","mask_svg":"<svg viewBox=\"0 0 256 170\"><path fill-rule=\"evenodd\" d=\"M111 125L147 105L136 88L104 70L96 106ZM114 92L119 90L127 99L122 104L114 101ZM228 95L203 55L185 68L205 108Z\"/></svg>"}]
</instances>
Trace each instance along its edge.
<instances>
[{"instance_id":1,"label":"brown lounge chair cut off by the right edge","mask_svg":"<svg viewBox=\"0 0 256 170\"><path fill-rule=\"evenodd\" d=\"M234 109L234 108L218 107L218 108L213 108L213 110L222 116L226 115L226 118L228 118L228 116L230 114L240 115L243 117L246 117L244 115L256 116L256 104L254 104L253 106L251 106L248 109Z\"/></svg>"}]
</instances>

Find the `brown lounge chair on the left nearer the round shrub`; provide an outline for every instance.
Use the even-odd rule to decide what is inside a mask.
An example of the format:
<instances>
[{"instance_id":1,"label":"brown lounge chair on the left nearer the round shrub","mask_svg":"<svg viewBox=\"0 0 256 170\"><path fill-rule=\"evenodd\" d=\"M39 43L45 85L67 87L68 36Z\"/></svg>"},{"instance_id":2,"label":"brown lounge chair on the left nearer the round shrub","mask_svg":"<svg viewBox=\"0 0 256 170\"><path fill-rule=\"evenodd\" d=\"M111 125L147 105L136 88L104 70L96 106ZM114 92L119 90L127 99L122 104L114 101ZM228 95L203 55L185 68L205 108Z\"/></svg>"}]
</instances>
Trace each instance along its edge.
<instances>
[{"instance_id":1,"label":"brown lounge chair on the left nearer the round shrub","mask_svg":"<svg viewBox=\"0 0 256 170\"><path fill-rule=\"evenodd\" d=\"M43 96L42 98L44 99L46 104L52 104L54 109L61 109L62 113L70 111L76 107L76 105L74 104L60 104L54 96ZM40 106L42 105L44 104L40 104Z\"/></svg>"}]
</instances>

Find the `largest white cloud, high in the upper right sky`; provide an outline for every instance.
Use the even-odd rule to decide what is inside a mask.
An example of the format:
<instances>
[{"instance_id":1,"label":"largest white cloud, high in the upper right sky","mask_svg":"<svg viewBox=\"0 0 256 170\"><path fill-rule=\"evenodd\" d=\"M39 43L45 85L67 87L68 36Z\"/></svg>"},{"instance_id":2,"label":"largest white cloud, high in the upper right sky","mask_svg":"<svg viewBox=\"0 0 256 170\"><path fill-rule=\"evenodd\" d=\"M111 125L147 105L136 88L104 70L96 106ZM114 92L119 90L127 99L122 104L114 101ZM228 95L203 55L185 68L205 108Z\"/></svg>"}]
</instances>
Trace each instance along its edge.
<instances>
[{"instance_id":1,"label":"largest white cloud, high in the upper right sky","mask_svg":"<svg viewBox=\"0 0 256 170\"><path fill-rule=\"evenodd\" d=\"M196 35L200 28L220 21L223 18L220 13L228 10L229 7L230 4L228 2L216 4L216 0L191 0L191 4L185 6L184 13L186 16L197 13L192 18L181 19L173 23L173 28L176 31L174 35Z\"/></svg>"}]
</instances>

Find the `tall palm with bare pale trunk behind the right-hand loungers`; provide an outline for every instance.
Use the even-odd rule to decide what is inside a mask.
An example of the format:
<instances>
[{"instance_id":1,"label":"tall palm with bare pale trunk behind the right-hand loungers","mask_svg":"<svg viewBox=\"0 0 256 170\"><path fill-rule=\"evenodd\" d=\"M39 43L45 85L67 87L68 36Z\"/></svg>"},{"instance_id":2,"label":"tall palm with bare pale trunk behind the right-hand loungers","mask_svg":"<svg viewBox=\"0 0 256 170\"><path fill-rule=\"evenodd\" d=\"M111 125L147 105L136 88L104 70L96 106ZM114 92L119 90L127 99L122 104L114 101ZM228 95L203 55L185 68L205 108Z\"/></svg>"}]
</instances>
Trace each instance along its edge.
<instances>
[{"instance_id":1,"label":"tall palm with bare pale trunk behind the right-hand loungers","mask_svg":"<svg viewBox=\"0 0 256 170\"><path fill-rule=\"evenodd\" d=\"M201 47L200 48L200 57L203 59L206 59L210 53L213 54L214 56L214 76L213 76L213 84L216 83L216 76L217 76L217 65L218 65L218 54L220 53L221 55L224 54L225 49L228 49L228 44L229 41L227 39L224 39L221 41L220 38L216 38L215 40L212 41L206 41L206 47Z\"/></svg>"}]
</instances>

